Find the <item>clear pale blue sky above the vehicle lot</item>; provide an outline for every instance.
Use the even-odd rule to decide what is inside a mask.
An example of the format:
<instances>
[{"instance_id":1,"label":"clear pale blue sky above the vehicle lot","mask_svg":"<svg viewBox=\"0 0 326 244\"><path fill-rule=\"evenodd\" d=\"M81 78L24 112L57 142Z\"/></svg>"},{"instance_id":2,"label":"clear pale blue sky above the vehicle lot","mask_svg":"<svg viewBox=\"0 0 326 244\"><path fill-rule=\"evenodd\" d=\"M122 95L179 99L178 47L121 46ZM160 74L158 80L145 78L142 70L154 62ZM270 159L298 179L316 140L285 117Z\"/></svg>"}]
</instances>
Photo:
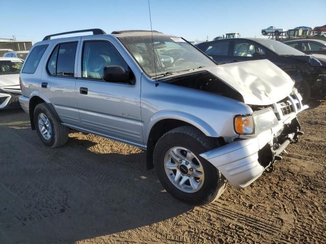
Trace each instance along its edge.
<instances>
[{"instance_id":1,"label":"clear pale blue sky above the vehicle lot","mask_svg":"<svg viewBox=\"0 0 326 244\"><path fill-rule=\"evenodd\" d=\"M261 37L261 29L326 24L326 0L150 0L152 27L188 41L226 33ZM148 0L0 0L0 38L41 41L49 34L101 28L150 29Z\"/></svg>"}]
</instances>

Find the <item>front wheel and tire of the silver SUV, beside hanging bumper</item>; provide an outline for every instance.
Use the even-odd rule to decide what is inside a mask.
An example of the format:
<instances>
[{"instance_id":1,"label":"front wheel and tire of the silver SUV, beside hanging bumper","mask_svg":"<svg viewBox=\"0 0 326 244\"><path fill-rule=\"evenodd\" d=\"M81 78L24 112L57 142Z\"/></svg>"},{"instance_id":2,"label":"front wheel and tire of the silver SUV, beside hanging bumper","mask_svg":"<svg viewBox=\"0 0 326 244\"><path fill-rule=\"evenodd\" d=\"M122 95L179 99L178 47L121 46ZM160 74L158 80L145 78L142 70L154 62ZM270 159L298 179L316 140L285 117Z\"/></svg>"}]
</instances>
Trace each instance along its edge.
<instances>
[{"instance_id":1,"label":"front wheel and tire of the silver SUV, beside hanging bumper","mask_svg":"<svg viewBox=\"0 0 326 244\"><path fill-rule=\"evenodd\" d=\"M199 156L217 146L211 138L190 126L164 134L154 148L154 167L166 191L192 205L208 204L219 198L227 180Z\"/></svg>"}]
</instances>

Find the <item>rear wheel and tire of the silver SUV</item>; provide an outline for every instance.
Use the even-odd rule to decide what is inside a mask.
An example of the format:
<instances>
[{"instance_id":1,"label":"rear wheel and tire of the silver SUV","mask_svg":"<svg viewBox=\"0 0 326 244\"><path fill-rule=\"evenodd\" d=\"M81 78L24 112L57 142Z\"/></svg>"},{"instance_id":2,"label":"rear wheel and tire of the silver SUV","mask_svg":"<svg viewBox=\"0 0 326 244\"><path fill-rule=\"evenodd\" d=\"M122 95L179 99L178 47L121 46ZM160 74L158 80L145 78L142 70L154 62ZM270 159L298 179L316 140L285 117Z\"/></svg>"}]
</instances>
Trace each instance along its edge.
<instances>
[{"instance_id":1,"label":"rear wheel and tire of the silver SUV","mask_svg":"<svg viewBox=\"0 0 326 244\"><path fill-rule=\"evenodd\" d=\"M68 128L60 123L46 103L36 105L34 121L37 134L45 145L55 148L67 142Z\"/></svg>"}]
</instances>

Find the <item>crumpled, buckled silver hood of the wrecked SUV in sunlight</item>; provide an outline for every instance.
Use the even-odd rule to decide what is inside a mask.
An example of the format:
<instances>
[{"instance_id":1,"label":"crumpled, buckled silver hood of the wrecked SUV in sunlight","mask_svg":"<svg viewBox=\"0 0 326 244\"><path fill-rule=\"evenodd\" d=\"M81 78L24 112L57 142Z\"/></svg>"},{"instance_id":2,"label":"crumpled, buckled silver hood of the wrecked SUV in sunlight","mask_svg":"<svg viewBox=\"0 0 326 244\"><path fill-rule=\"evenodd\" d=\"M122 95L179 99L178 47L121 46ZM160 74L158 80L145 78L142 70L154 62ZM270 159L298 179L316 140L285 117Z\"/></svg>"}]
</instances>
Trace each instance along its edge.
<instances>
[{"instance_id":1,"label":"crumpled, buckled silver hood of the wrecked SUV in sunlight","mask_svg":"<svg viewBox=\"0 0 326 244\"><path fill-rule=\"evenodd\" d=\"M269 105L289 96L293 80L267 59L225 64L206 69L237 90L244 103Z\"/></svg>"}]
</instances>

